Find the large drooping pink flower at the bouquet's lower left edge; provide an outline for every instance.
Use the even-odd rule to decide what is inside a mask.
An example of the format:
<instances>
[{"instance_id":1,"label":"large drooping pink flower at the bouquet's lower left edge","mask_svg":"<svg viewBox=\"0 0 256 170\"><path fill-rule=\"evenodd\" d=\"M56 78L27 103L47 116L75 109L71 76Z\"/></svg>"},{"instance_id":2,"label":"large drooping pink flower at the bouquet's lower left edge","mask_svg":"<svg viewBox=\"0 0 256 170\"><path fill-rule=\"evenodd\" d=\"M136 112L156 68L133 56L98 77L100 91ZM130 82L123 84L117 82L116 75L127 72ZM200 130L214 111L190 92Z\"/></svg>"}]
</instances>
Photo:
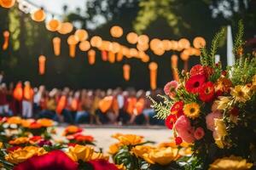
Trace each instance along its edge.
<instances>
[{"instance_id":1,"label":"large drooping pink flower at the bouquet's lower left edge","mask_svg":"<svg viewBox=\"0 0 256 170\"><path fill-rule=\"evenodd\" d=\"M177 130L178 136L181 137L187 143L193 143L194 138L194 128L191 127L189 118L186 116L180 116L175 123L175 128Z\"/></svg>"}]
</instances>

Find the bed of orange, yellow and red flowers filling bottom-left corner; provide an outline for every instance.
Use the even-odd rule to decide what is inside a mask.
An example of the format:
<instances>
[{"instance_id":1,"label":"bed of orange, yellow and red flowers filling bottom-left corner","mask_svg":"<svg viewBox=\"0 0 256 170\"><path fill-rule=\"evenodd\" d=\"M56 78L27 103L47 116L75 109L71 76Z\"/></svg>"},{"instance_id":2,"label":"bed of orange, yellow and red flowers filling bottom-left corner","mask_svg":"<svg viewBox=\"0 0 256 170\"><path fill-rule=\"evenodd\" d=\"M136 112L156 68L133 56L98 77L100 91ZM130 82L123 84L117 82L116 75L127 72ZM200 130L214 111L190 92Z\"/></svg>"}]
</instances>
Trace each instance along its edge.
<instances>
[{"instance_id":1,"label":"bed of orange, yellow and red flowers filling bottom-left corner","mask_svg":"<svg viewBox=\"0 0 256 170\"><path fill-rule=\"evenodd\" d=\"M0 168L118 170L107 154L92 146L94 138L84 135L82 128L67 126L60 141L54 138L55 124L49 119L2 117Z\"/></svg>"}]
</instances>

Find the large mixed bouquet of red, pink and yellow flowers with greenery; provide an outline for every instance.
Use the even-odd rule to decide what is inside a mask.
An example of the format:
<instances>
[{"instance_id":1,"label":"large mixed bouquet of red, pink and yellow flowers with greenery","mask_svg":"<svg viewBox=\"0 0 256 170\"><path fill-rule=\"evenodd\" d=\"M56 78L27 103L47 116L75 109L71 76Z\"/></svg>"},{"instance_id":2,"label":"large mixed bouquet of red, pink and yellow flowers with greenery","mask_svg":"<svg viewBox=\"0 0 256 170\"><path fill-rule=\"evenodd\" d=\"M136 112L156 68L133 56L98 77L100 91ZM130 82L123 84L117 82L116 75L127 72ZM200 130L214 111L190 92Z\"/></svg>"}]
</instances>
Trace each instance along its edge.
<instances>
[{"instance_id":1,"label":"large mixed bouquet of red, pink and yellow flowers with greenery","mask_svg":"<svg viewBox=\"0 0 256 170\"><path fill-rule=\"evenodd\" d=\"M247 161L256 162L256 59L243 53L241 21L238 26L235 65L223 70L215 63L221 30L211 53L201 48L200 65L166 84L160 103L149 97L176 144L193 144L193 155L177 161L185 169L249 169Z\"/></svg>"}]
</instances>

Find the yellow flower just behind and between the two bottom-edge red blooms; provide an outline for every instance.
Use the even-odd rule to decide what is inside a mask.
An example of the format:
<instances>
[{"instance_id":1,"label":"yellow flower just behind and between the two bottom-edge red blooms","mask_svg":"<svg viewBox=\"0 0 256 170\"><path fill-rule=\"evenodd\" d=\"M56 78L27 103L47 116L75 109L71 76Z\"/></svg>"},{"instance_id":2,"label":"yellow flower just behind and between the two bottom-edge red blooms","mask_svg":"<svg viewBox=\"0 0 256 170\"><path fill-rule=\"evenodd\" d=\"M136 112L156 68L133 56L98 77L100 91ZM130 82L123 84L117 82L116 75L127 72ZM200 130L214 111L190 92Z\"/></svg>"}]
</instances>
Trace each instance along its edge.
<instances>
[{"instance_id":1,"label":"yellow flower just behind and between the two bottom-edge red blooms","mask_svg":"<svg viewBox=\"0 0 256 170\"><path fill-rule=\"evenodd\" d=\"M66 153L73 161L90 161L93 155L93 148L90 146L84 146L76 144L74 147L69 148Z\"/></svg>"}]
</instances>

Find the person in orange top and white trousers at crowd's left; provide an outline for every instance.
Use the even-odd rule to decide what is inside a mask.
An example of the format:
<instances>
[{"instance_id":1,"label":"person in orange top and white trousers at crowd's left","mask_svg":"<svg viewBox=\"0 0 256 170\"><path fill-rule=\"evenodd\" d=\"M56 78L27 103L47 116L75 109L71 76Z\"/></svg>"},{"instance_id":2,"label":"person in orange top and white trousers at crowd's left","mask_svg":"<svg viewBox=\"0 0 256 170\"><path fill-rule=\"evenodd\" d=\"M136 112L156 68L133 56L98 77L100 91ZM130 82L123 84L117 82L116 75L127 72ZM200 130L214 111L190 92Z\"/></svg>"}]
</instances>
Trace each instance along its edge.
<instances>
[{"instance_id":1,"label":"person in orange top and white trousers at crowd's left","mask_svg":"<svg viewBox=\"0 0 256 170\"><path fill-rule=\"evenodd\" d=\"M22 116L32 117L33 89L30 82L24 82L23 99L22 99Z\"/></svg>"}]
</instances>

